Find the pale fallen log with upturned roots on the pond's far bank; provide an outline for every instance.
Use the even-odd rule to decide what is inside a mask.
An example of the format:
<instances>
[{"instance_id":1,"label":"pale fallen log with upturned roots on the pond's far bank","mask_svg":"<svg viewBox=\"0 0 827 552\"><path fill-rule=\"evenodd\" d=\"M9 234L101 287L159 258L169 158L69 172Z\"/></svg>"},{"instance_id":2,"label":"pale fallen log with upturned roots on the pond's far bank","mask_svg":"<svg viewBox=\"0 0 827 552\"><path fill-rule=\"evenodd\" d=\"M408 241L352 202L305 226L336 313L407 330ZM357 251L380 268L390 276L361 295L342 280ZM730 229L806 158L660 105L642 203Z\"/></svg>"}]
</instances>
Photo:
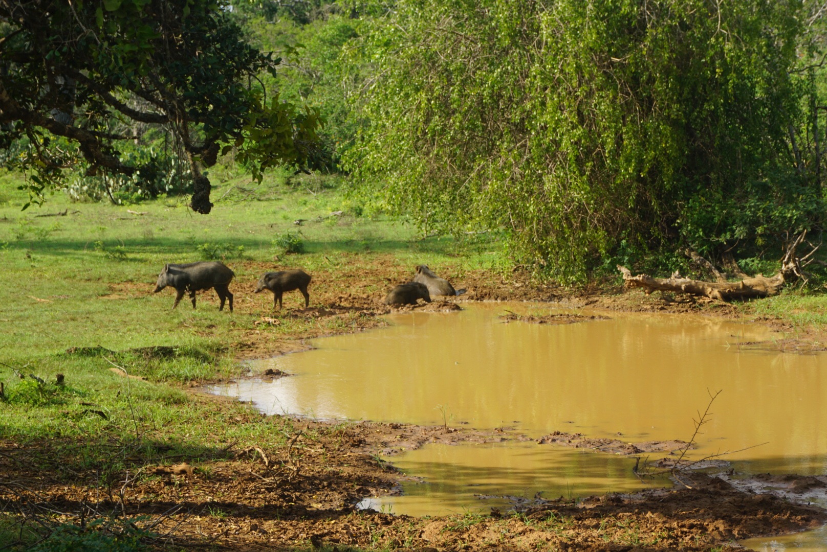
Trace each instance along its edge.
<instances>
[{"instance_id":1,"label":"pale fallen log with upturned roots on the pond's far bank","mask_svg":"<svg viewBox=\"0 0 827 552\"><path fill-rule=\"evenodd\" d=\"M820 247L820 245L812 245L807 242L810 247L812 247L812 250L801 258L797 257L796 247L801 245L806 235L807 232L804 231L795 240L788 243L784 256L782 257L781 269L777 274L769 277L758 274L752 278L745 277L739 282L704 282L690 278L681 278L681 275L677 272L672 274L670 278L653 278L648 274L633 276L629 269L619 264L617 268L620 273L623 274L624 284L627 288L643 288L643 292L647 295L653 292L687 293L699 297L710 297L711 299L717 299L719 301L769 297L781 291L782 286L786 282L797 278L806 281L806 273L803 267L814 262L815 259L812 259L812 255L815 254L815 251ZM687 253L687 255L691 254ZM697 257L704 260L700 255L697 255ZM693 259L695 259L694 256ZM706 262L708 263L708 261ZM737 266L737 264L735 264L735 266ZM714 274L719 276L717 270L714 271ZM741 274L743 274L743 272ZM743 274L743 276L746 276L746 274Z\"/></svg>"}]
</instances>

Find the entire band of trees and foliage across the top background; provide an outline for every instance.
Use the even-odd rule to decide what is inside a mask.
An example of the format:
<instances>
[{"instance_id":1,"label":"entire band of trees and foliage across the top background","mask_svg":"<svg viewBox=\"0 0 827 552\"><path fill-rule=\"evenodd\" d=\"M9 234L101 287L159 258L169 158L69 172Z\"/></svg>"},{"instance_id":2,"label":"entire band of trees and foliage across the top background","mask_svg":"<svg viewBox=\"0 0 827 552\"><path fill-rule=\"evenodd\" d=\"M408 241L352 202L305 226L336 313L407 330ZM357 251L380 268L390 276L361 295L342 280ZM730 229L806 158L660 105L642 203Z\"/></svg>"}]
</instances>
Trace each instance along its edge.
<instances>
[{"instance_id":1,"label":"entire band of trees and foliage across the top background","mask_svg":"<svg viewBox=\"0 0 827 552\"><path fill-rule=\"evenodd\" d=\"M24 5L50 19L15 26ZM567 281L685 247L777 255L824 223L824 0L0 6L2 82L48 123L0 117L35 193L66 174L183 191L220 155L343 170L425 235L493 231Z\"/></svg>"}]
</instances>

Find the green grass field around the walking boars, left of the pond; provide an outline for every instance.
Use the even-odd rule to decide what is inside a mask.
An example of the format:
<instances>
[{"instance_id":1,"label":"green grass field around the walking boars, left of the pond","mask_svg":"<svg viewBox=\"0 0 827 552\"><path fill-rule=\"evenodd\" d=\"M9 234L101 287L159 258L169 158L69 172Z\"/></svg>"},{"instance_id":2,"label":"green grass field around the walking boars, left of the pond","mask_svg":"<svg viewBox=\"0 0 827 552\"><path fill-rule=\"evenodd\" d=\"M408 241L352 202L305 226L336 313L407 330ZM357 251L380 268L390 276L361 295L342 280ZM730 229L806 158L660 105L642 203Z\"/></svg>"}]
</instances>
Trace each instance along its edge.
<instances>
[{"instance_id":1,"label":"green grass field around the walking boars, left of the pond","mask_svg":"<svg viewBox=\"0 0 827 552\"><path fill-rule=\"evenodd\" d=\"M213 174L213 181L221 182L208 216L189 211L185 197L112 205L69 202L61 193L22 212L27 197L17 190L20 177L0 174L0 455L36 445L26 453L29 468L51 481L80 479L90 493L112 496L125 471L157 477L141 472L147 465L230 458L231 446L243 450L264 441L284 450L297 435L292 421L272 416L262 422L249 405L219 405L190 388L244 374L239 347L252 334L260 339L256 350L267 350L272 340L276 354L276 342L378 322L359 312L290 316L299 306L291 294L273 314L272 295L252 293L261 272L298 267L322 274L311 296L321 293L327 305L354 283L362 295L381 297L390 277L356 274L368 265L381 268L370 274L394 278L422 263L460 273L510 272L495 236L423 239L404 217L370 212L347 197L335 177L287 185L284 175L274 174L256 184L227 173ZM170 310L169 289L151 293L165 263L208 259L237 274L232 314L218 312L212 291L199 294L196 310L187 300ZM812 291L791 290L740 308L795 331L818 333L827 325L825 296ZM263 316L278 324L256 326ZM313 431L303 435L318 438ZM43 534L27 531L12 517L0 518L0 542L22 548ZM133 550L130 542L118 546Z\"/></svg>"}]
</instances>

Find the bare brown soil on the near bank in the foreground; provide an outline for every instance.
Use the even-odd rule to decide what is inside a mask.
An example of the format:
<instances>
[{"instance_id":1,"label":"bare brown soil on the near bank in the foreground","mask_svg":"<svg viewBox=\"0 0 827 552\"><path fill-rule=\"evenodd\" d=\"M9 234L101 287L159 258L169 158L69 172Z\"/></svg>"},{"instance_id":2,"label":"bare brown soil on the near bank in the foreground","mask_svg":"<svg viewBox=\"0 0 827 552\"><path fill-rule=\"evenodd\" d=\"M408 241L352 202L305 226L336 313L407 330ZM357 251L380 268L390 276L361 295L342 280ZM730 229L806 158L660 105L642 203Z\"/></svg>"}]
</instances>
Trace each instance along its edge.
<instances>
[{"instance_id":1,"label":"bare brown soil on the near bank in the foreground","mask_svg":"<svg viewBox=\"0 0 827 552\"><path fill-rule=\"evenodd\" d=\"M196 400L213 400L198 397ZM218 409L227 401L215 400ZM238 423L272 424L275 416ZM275 431L275 427L274 427ZM685 474L691 488L609 494L571 502L537 500L519 516L413 518L357 512L363 497L395 493L399 474L375 451L394 454L430 442L524 439L504 431L362 422L347 426L304 421L287 450L232 445L201 462L147 465L127 484L107 485L98 473L44 469L60 443L22 448L0 443L0 484L6 508L48 503L51 512L117 512L159 521L173 546L213 545L223 550L327 547L326 550L710 550L731 540L819 526L825 510L774 493L739 490L721 478ZM34 468L37 466L37 468ZM137 477L141 472L151 477ZM743 486L743 480L739 483ZM819 478L766 476L753 484L824 488ZM108 490L107 490L108 489ZM801 492L804 492L803 490ZM77 521L62 516L65 521Z\"/></svg>"}]
</instances>

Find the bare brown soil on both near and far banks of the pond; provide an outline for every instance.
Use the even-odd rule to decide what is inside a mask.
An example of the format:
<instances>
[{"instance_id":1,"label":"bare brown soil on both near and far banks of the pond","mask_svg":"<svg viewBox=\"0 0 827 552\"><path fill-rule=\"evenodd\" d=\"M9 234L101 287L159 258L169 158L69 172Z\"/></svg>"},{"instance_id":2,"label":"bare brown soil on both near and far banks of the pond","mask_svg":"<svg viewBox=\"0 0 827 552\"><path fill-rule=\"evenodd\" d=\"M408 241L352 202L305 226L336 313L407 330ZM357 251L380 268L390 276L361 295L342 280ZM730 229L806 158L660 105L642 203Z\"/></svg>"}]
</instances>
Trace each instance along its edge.
<instances>
[{"instance_id":1,"label":"bare brown soil on both near and far banks of the pond","mask_svg":"<svg viewBox=\"0 0 827 552\"><path fill-rule=\"evenodd\" d=\"M455 286L467 288L466 295L390 309L381 303L385 293L413 276L412 269L400 267L391 259L390 255L342 255L331 269L313 271L309 308L298 308L304 306L298 293L285 294L281 311L273 310L270 293L237 293L233 316L249 323L239 323L229 335L233 350L241 358L279 355L307 349L306 338L381 326L385 321L380 315L389 312L451 311L461 308L462 302L480 300L547 301L571 308L739 316L735 307L707 299L647 297L637 292L619 293L619 289L571 293L552 285L531 283L528 274L519 272L502 277L481 270L456 269L439 274ZM244 269L238 272L246 276L237 278L232 288L240 290L251 290L259 274L275 268L272 264L249 261L238 265ZM345 270L343 266L359 268ZM111 293L101 298L128 299L151 293L151 289L151 282L112 284ZM203 307L218 306L211 291L200 294L198 301ZM170 306L171 303L172 297ZM183 307L187 305L182 302L179 308ZM515 320L567 323L590 319L527 318L533 317ZM325 329L322 324L304 324L302 335L274 332L276 326L295 319L338 319L344 323L337 330ZM193 398L209 402L217 416L229 408L227 399L199 394ZM281 416L258 416L253 412L235 419L238 424L262 425L262 435L277 435L278 428L287 423ZM700 473L682 475L681 481L689 480L691 488L609 494L579 502L542 501L520 516L506 516L495 510L490 516L438 518L356 512L354 505L364 497L399 492L402 476L377 454L393 456L431 442L457 444L526 437L509 431L375 422L289 423L300 429L292 434L294 439L289 445L262 442L237 450L226 444L210 454L170 459L165 466L152 464L152 459L147 458L137 473L133 469L114 474L113 483L102 483L99 473L68 473L60 468L55 464L59 440L25 448L13 441L0 442L0 473L16 485L12 488L0 483L0 502L5 501L9 511L17 507L25 510L26 505L36 502L48 503L52 512L79 512L93 505L98 512L114 510L130 516L153 516L160 520L154 531L170 531L166 544L229 550L295 546L337 552L345 552L351 546L471 551L710 550L716 545L725 548L733 539L798 531L827 521L825 510L765 492L773 485L798 485L811 490L824 485L821 479L793 478L793 483L767 480L749 487L742 480L710 478ZM268 425L273 428L269 430ZM559 433L540 441L612 454L670 451L686 445L681 441L629 444ZM133 459L141 465L140 454L136 453ZM142 473L153 475L137 477Z\"/></svg>"}]
</instances>

